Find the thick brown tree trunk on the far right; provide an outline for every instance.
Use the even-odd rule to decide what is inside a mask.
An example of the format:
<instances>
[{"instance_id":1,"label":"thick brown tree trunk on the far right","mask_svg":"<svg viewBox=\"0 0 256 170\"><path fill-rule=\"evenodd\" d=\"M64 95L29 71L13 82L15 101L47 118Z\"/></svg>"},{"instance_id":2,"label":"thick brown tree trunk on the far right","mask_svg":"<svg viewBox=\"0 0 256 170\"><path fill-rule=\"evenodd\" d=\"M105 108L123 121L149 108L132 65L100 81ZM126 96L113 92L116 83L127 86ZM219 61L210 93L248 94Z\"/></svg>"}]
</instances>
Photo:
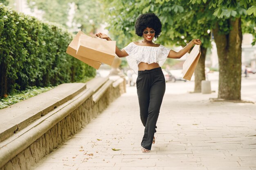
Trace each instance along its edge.
<instances>
[{"instance_id":1,"label":"thick brown tree trunk on the far right","mask_svg":"<svg viewBox=\"0 0 256 170\"><path fill-rule=\"evenodd\" d=\"M228 22L231 31L227 35L220 34L218 23L213 29L219 59L218 98L241 100L241 18L230 18Z\"/></svg>"}]
</instances>

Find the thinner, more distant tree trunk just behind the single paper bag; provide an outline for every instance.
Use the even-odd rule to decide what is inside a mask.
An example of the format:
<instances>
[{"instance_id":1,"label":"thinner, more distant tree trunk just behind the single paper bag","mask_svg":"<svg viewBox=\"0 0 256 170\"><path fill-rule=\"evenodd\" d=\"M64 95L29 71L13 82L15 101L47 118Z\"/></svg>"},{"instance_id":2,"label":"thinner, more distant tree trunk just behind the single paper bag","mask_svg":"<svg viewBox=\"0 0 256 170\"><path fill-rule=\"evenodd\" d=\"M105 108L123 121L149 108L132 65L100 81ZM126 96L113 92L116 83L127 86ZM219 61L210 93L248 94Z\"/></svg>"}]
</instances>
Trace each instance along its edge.
<instances>
[{"instance_id":1,"label":"thinner, more distant tree trunk just behind the single paper bag","mask_svg":"<svg viewBox=\"0 0 256 170\"><path fill-rule=\"evenodd\" d=\"M198 65L195 68L195 88L194 88L195 93L201 92L201 81L205 80L204 62L205 62L206 51L207 49L201 46L201 56L198 61Z\"/></svg>"}]
</instances>

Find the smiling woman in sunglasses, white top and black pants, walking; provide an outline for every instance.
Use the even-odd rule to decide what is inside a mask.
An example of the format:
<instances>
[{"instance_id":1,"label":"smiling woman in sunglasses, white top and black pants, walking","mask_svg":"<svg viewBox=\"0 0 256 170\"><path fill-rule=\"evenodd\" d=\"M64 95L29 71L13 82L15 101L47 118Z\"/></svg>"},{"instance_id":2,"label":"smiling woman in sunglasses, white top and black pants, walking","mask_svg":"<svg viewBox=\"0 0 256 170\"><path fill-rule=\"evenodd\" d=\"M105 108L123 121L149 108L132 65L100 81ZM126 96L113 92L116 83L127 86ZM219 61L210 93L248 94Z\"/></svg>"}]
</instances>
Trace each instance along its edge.
<instances>
[{"instance_id":1,"label":"smiling woman in sunglasses, white top and black pants, walking","mask_svg":"<svg viewBox=\"0 0 256 170\"><path fill-rule=\"evenodd\" d=\"M142 152L148 153L155 143L154 133L162 99L165 92L165 79L161 66L166 58L180 58L186 54L194 44L201 44L200 39L193 39L179 52L175 52L154 40L159 37L162 24L154 13L142 14L135 24L136 34L141 37L139 42L131 42L124 49L116 46L118 57L126 57L127 62L138 74L136 85L139 99L140 118L145 127L141 141ZM97 37L111 41L108 35L97 33Z\"/></svg>"}]
</instances>

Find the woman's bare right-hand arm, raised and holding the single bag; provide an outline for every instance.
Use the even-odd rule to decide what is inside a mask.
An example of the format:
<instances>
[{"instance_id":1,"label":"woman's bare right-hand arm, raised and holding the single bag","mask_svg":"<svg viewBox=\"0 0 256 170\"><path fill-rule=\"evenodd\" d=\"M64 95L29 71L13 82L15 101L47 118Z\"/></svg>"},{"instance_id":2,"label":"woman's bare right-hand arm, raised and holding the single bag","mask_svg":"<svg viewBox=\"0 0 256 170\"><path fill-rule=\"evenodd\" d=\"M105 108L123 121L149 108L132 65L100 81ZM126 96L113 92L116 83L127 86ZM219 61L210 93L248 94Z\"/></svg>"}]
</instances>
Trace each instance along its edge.
<instances>
[{"instance_id":1,"label":"woman's bare right-hand arm, raised and holding the single bag","mask_svg":"<svg viewBox=\"0 0 256 170\"><path fill-rule=\"evenodd\" d=\"M181 58L183 55L185 55L194 44L200 45L202 42L200 39L193 39L189 44L187 44L183 49L181 49L179 52L171 50L168 54L168 58Z\"/></svg>"}]
</instances>

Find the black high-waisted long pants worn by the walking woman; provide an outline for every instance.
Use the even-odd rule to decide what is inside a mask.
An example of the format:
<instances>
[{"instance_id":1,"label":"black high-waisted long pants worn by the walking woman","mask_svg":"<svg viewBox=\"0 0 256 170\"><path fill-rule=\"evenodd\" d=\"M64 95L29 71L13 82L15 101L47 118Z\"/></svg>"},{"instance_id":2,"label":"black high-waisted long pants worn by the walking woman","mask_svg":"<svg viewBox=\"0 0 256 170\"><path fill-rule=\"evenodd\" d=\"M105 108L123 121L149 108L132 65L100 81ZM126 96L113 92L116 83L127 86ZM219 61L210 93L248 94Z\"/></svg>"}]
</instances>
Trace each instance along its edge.
<instances>
[{"instance_id":1,"label":"black high-waisted long pants worn by the walking woman","mask_svg":"<svg viewBox=\"0 0 256 170\"><path fill-rule=\"evenodd\" d=\"M151 150L157 118L165 92L165 79L162 68L138 71L136 81L139 99L140 118L145 127L141 146Z\"/></svg>"}]
</instances>

